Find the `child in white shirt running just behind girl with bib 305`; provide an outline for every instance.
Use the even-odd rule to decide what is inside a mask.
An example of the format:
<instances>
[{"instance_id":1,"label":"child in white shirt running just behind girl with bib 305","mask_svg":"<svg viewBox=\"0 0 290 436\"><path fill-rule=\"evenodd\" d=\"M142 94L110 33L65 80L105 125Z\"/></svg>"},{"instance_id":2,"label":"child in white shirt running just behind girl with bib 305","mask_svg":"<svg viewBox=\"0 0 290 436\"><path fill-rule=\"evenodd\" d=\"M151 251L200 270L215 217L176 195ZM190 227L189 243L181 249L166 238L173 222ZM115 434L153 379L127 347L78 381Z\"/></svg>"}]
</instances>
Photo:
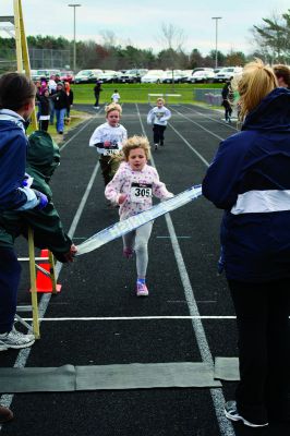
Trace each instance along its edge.
<instances>
[{"instance_id":1,"label":"child in white shirt running just behind girl with bib 305","mask_svg":"<svg viewBox=\"0 0 290 436\"><path fill-rule=\"evenodd\" d=\"M120 105L106 106L107 122L99 125L89 140L90 147L97 147L100 154L99 165L105 186L112 180L120 165L120 152L126 140L126 130L119 124L122 114Z\"/></svg>"}]
</instances>

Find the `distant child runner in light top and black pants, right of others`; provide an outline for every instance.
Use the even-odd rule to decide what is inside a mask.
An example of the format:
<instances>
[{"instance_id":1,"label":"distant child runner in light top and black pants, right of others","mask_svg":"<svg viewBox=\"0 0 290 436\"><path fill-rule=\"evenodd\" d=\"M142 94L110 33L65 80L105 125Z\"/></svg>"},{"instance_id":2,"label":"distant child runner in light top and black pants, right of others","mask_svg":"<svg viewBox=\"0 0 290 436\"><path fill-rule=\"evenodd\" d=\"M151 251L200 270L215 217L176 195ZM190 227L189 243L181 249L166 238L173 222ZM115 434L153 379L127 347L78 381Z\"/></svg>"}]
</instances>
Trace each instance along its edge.
<instances>
[{"instance_id":1,"label":"distant child runner in light top and black pants, right of others","mask_svg":"<svg viewBox=\"0 0 290 436\"><path fill-rule=\"evenodd\" d=\"M157 98L156 106L148 112L147 123L153 124L154 148L165 145L165 130L167 121L171 118L171 112L165 107L165 100Z\"/></svg>"}]
</instances>

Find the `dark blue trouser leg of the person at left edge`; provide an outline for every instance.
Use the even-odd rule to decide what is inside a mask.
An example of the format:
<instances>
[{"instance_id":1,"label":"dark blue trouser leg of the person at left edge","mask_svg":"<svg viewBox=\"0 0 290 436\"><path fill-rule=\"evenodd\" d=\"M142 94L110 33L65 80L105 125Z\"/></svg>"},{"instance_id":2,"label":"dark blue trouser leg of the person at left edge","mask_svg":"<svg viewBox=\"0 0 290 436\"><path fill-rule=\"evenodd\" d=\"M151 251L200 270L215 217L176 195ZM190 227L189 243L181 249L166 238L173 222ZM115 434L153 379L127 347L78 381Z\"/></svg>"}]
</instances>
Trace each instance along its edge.
<instances>
[{"instance_id":1,"label":"dark blue trouser leg of the person at left edge","mask_svg":"<svg viewBox=\"0 0 290 436\"><path fill-rule=\"evenodd\" d=\"M12 330L20 277L21 265L13 249L0 246L0 334Z\"/></svg>"}]
</instances>

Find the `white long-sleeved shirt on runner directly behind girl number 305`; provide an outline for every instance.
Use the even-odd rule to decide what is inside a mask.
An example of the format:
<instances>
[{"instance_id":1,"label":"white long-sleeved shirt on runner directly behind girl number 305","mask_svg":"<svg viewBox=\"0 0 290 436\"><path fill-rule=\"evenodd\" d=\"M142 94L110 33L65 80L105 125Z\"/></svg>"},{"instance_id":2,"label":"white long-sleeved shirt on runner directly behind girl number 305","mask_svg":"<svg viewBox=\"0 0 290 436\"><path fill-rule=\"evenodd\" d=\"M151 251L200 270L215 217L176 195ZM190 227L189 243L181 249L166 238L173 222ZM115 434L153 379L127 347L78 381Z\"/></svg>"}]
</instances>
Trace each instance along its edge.
<instances>
[{"instance_id":1,"label":"white long-sleeved shirt on runner directly behind girl number 305","mask_svg":"<svg viewBox=\"0 0 290 436\"><path fill-rule=\"evenodd\" d=\"M116 128L112 128L108 122L106 122L99 125L90 136L89 147L99 144L97 150L100 155L112 156L120 153L126 137L126 130L123 125L118 124ZM110 145L105 147L105 142L110 143Z\"/></svg>"}]
</instances>

